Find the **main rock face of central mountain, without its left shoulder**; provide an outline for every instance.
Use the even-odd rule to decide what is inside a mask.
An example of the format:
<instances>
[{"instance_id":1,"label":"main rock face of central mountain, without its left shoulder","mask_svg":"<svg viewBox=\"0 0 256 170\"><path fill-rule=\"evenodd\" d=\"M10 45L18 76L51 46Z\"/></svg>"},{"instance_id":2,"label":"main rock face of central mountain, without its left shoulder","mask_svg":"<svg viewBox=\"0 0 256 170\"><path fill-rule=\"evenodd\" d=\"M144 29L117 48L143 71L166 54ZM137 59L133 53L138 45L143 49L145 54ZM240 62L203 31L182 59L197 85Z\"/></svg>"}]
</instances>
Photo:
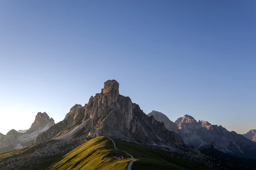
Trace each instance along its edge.
<instances>
[{"instance_id":1,"label":"main rock face of central mountain, without its left shoulder","mask_svg":"<svg viewBox=\"0 0 256 170\"><path fill-rule=\"evenodd\" d=\"M142 144L186 147L180 136L169 132L163 123L148 117L129 97L119 94L119 83L108 80L102 93L85 105L84 127L89 136L113 136Z\"/></svg>"}]
</instances>

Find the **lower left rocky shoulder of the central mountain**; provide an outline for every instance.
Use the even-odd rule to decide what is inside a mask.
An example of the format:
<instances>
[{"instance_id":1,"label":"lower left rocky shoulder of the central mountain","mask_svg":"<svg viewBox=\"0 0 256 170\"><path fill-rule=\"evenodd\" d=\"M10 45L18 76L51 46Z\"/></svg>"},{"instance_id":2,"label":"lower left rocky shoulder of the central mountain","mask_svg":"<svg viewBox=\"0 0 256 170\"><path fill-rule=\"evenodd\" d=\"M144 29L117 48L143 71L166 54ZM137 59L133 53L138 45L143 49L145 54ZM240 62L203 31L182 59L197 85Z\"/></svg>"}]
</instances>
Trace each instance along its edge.
<instances>
[{"instance_id":1,"label":"lower left rocky shoulder of the central mountain","mask_svg":"<svg viewBox=\"0 0 256 170\"><path fill-rule=\"evenodd\" d=\"M54 137L61 136L68 130L73 129L77 125L80 125L83 118L84 106L76 104L70 109L70 112L67 113L63 121L58 122L56 125L50 127L47 131L38 135L38 137L35 139L35 142L41 143Z\"/></svg>"}]
</instances>

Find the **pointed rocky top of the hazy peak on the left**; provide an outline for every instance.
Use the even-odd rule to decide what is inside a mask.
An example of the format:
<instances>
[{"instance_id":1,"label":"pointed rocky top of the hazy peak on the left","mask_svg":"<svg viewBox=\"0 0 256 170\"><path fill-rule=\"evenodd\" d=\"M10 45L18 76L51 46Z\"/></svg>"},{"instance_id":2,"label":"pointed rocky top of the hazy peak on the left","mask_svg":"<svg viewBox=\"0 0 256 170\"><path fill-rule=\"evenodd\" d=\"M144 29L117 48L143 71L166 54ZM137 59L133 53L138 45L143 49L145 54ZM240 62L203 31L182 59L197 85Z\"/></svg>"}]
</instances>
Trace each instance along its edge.
<instances>
[{"instance_id":1,"label":"pointed rocky top of the hazy peak on the left","mask_svg":"<svg viewBox=\"0 0 256 170\"><path fill-rule=\"evenodd\" d=\"M41 130L44 127L51 127L55 125L54 120L47 115L47 113L41 113L38 112L38 114L35 116L35 121L32 123L31 127L27 131L27 133L32 133L36 130Z\"/></svg>"}]
</instances>

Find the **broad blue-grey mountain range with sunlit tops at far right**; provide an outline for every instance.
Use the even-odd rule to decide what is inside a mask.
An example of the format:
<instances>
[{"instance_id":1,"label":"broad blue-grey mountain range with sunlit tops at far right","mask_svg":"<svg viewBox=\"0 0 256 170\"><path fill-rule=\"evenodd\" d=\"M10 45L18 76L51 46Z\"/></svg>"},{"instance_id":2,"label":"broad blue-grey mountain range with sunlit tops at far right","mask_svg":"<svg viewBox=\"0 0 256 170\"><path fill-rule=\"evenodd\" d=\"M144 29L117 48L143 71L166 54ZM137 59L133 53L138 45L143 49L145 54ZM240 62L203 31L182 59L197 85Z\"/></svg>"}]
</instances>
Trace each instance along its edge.
<instances>
[{"instance_id":1,"label":"broad blue-grey mountain range with sunlit tops at far right","mask_svg":"<svg viewBox=\"0 0 256 170\"><path fill-rule=\"evenodd\" d=\"M239 156L256 158L256 143L236 132L228 131L221 125L211 125L207 121L196 121L192 116L184 115L175 121L178 132L184 142L190 146L202 148L213 145L218 150Z\"/></svg>"}]
</instances>

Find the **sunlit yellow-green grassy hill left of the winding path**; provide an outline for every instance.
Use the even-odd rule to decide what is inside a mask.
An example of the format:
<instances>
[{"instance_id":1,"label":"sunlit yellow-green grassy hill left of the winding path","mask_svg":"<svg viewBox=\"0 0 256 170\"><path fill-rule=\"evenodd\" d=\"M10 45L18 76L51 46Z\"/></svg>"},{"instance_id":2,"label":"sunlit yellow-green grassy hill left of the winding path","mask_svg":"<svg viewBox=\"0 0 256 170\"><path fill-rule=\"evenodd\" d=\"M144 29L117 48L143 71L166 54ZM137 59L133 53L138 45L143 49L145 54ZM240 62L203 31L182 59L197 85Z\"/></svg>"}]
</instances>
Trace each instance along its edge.
<instances>
[{"instance_id":1,"label":"sunlit yellow-green grassy hill left of the winding path","mask_svg":"<svg viewBox=\"0 0 256 170\"><path fill-rule=\"evenodd\" d=\"M67 153L48 170L125 170L129 159L102 160L104 156L116 151L113 149L113 143L108 138L97 137ZM125 158L129 158L123 154Z\"/></svg>"}]
</instances>

